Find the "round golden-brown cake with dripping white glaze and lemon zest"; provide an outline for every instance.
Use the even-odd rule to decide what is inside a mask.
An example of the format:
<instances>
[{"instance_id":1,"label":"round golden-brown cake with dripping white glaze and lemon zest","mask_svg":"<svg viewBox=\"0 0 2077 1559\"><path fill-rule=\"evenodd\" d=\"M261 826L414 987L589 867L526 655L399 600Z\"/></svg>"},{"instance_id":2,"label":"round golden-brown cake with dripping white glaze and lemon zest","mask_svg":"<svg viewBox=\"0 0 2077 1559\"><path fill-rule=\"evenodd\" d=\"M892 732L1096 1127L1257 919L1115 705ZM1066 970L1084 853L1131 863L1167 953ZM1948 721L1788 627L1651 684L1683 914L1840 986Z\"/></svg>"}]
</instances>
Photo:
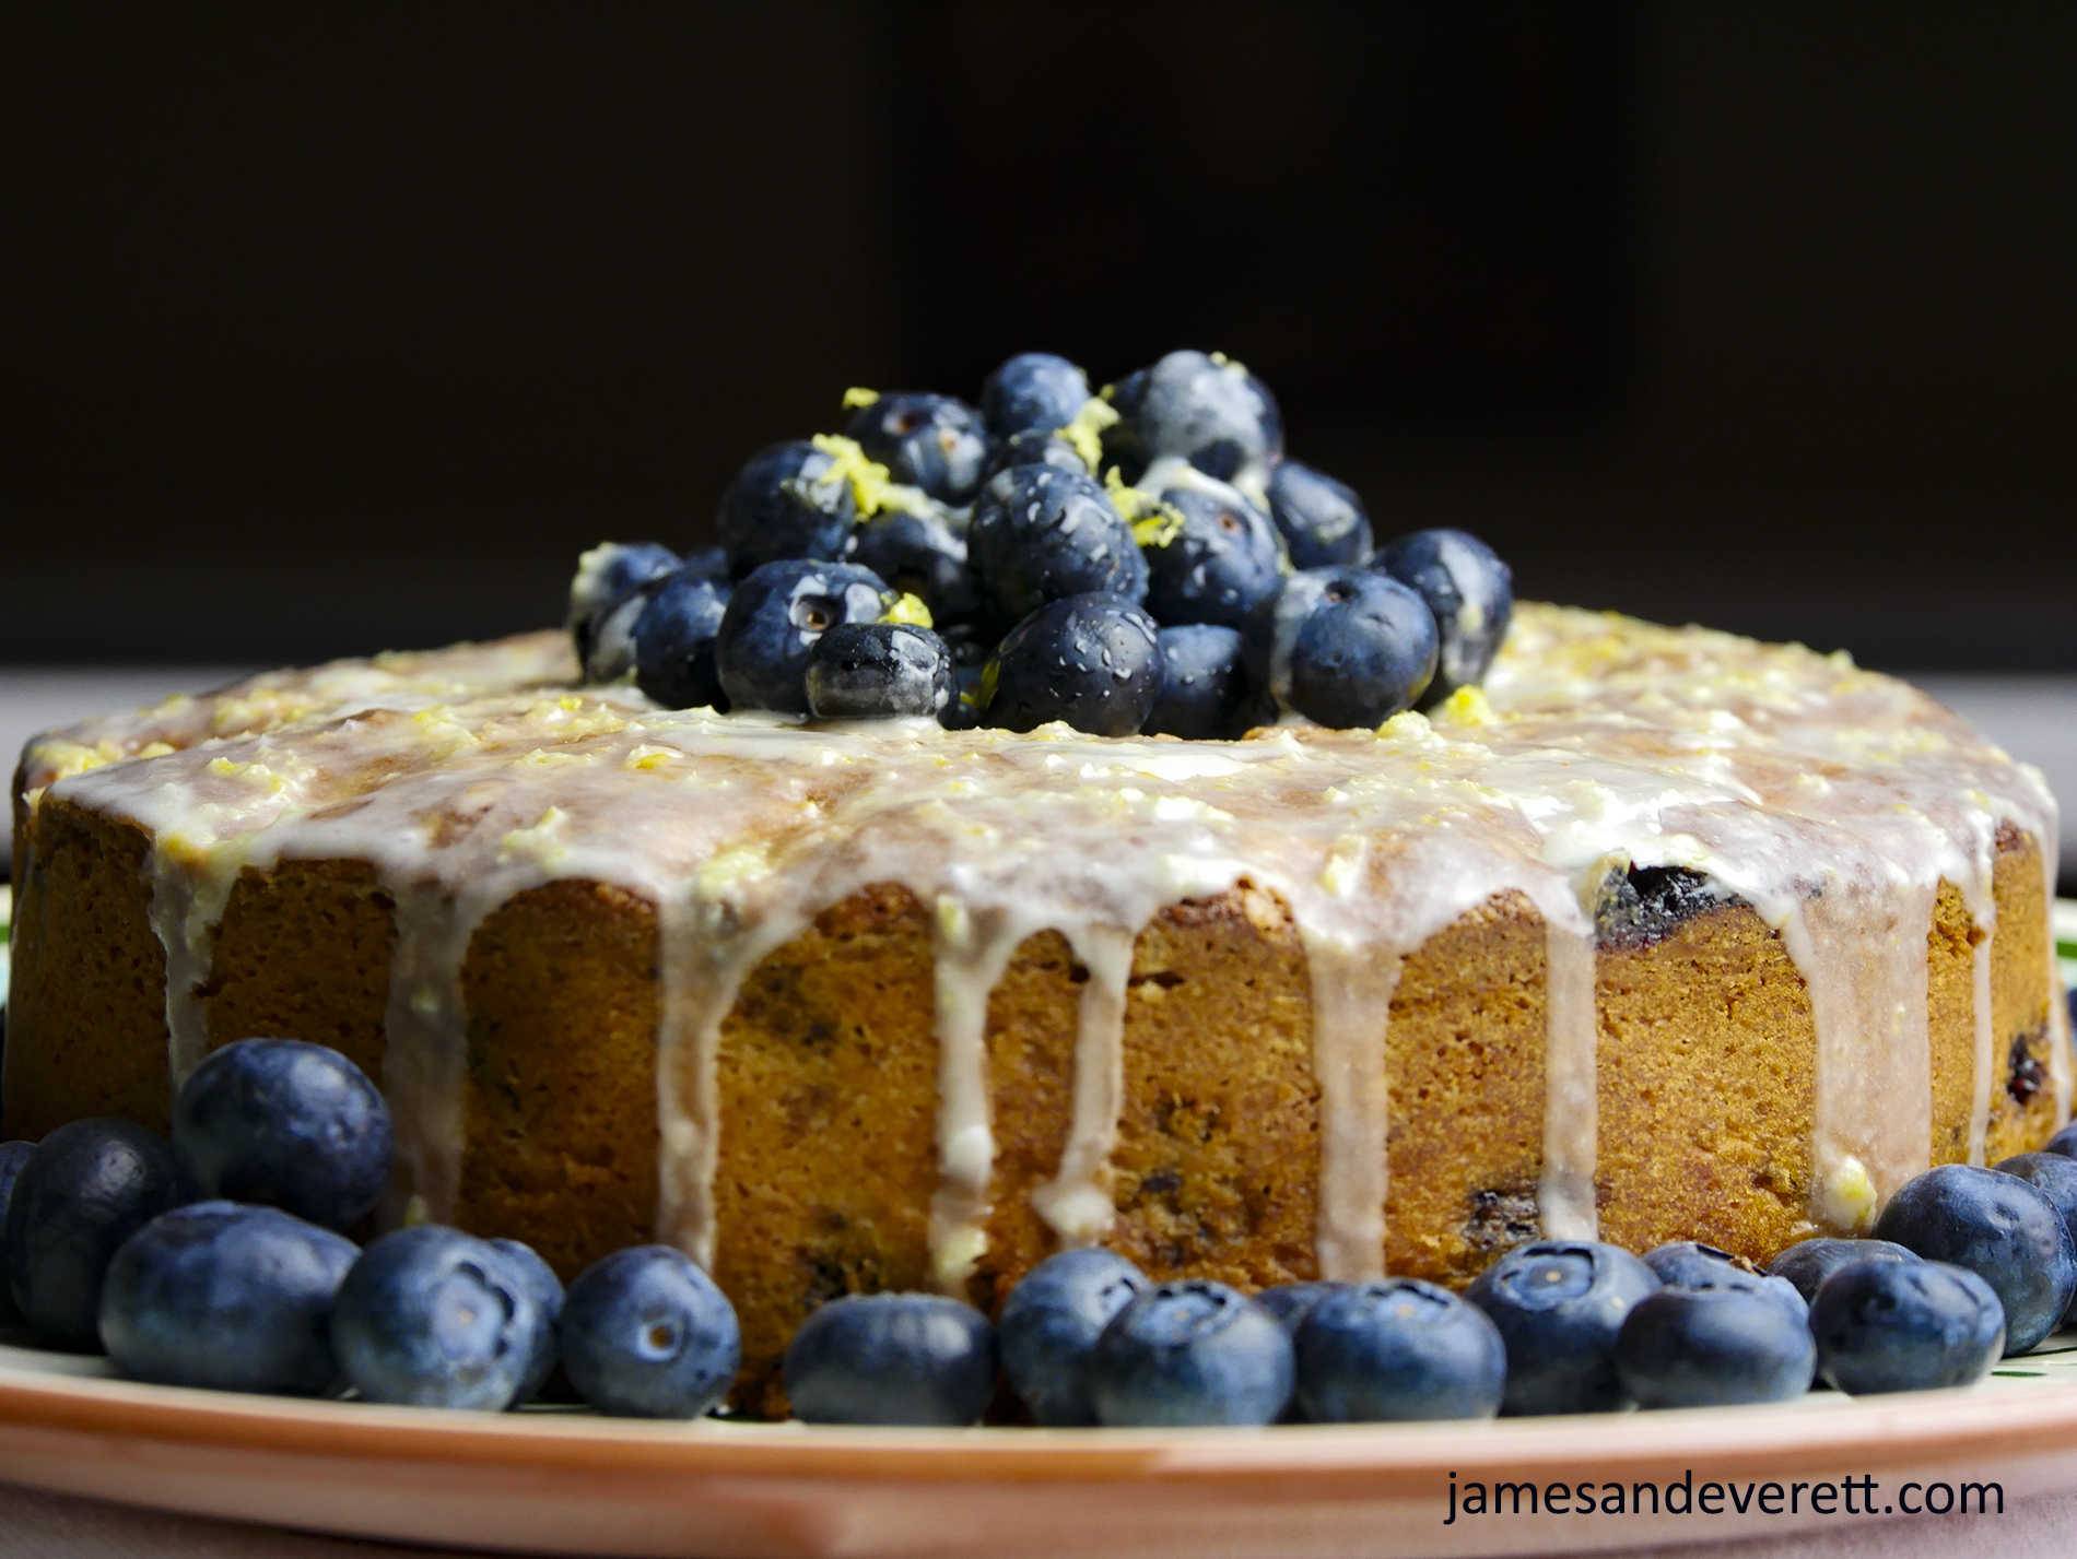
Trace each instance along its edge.
<instances>
[{"instance_id":1,"label":"round golden-brown cake with dripping white glaze and lemon zest","mask_svg":"<svg viewBox=\"0 0 2077 1559\"><path fill-rule=\"evenodd\" d=\"M847 1291L1768 1260L2069 1119L2054 801L1844 656L1525 604L1483 689L1244 741L575 677L540 633L33 741L6 1136L332 1044L386 1221L671 1241L779 1414Z\"/></svg>"}]
</instances>

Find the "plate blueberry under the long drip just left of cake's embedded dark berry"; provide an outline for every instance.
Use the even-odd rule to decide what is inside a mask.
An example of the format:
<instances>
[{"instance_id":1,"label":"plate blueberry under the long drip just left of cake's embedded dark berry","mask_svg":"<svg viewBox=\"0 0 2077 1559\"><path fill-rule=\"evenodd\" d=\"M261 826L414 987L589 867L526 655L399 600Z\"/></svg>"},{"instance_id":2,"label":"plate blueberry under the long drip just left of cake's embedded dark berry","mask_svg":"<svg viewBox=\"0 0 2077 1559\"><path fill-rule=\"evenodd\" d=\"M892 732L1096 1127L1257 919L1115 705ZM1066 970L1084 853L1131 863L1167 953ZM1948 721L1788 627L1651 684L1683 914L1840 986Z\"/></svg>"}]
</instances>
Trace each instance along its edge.
<instances>
[{"instance_id":1,"label":"plate blueberry under the long drip just left of cake's embedded dark berry","mask_svg":"<svg viewBox=\"0 0 2077 1559\"><path fill-rule=\"evenodd\" d=\"M1622 1407L1616 1335L1660 1287L1616 1246L1539 1239L1487 1266L1464 1297L1508 1345L1506 1414L1597 1414Z\"/></svg>"}]
</instances>

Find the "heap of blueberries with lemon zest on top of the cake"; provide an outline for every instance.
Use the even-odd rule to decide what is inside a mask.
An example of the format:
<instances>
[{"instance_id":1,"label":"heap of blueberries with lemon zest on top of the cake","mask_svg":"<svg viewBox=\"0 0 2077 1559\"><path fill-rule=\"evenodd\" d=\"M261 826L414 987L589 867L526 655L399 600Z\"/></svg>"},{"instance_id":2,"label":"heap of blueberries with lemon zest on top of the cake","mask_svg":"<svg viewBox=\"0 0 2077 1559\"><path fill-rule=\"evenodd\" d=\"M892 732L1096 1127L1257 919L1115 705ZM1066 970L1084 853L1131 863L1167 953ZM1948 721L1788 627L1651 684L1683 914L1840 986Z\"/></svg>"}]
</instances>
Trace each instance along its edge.
<instances>
[{"instance_id":1,"label":"heap of blueberries with lemon zest on top of the cake","mask_svg":"<svg viewBox=\"0 0 2077 1559\"><path fill-rule=\"evenodd\" d=\"M978 407L845 407L843 434L737 473L719 548L584 554L588 681L631 677L665 708L1223 739L1433 708L1506 637L1491 548L1427 529L1373 550L1356 494L1284 459L1275 399L1219 353L1095 396L1022 353Z\"/></svg>"}]
</instances>

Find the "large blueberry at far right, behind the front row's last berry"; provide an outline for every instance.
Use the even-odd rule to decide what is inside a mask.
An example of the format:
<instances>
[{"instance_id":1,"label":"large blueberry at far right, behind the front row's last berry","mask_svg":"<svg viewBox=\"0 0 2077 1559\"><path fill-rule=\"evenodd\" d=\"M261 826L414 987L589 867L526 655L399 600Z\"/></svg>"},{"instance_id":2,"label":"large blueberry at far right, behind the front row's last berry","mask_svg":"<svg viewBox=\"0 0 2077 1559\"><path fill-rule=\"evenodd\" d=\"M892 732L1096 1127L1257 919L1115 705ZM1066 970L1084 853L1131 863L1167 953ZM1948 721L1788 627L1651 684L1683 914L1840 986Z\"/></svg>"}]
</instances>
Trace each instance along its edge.
<instances>
[{"instance_id":1,"label":"large blueberry at far right, behind the front row's last berry","mask_svg":"<svg viewBox=\"0 0 2077 1559\"><path fill-rule=\"evenodd\" d=\"M2017 1175L1940 1165L1898 1187L1876 1219L1930 1262L1952 1262L1990 1283L2004 1306L2004 1351L2025 1353L2062 1320L2077 1291L2077 1252L2048 1196Z\"/></svg>"}]
</instances>

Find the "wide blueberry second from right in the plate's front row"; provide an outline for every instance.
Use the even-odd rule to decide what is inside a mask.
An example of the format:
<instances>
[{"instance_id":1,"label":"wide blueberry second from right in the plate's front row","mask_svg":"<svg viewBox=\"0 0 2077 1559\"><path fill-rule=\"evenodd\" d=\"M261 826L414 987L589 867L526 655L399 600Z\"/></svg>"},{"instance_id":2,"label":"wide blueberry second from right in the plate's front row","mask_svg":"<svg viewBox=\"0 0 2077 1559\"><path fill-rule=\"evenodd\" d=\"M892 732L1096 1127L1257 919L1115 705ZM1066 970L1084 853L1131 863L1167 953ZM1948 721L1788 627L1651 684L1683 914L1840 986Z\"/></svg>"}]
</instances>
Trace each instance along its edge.
<instances>
[{"instance_id":1,"label":"wide blueberry second from right in the plate's front row","mask_svg":"<svg viewBox=\"0 0 2077 1559\"><path fill-rule=\"evenodd\" d=\"M1803 1300L1795 1310L1749 1279L1664 1287L1616 1337L1616 1374L1639 1407L1726 1407L1801 1397L1817 1372Z\"/></svg>"}]
</instances>

